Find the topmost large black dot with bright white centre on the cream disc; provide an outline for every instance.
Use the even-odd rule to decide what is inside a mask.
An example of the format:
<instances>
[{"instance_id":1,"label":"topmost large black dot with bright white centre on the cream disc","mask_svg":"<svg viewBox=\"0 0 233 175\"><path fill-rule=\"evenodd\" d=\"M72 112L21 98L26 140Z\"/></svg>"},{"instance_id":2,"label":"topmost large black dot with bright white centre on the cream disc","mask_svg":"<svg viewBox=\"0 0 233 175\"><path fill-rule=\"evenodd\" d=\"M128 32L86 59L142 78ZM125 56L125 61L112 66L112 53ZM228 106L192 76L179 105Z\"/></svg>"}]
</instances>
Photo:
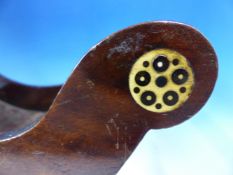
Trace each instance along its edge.
<instances>
[{"instance_id":1,"label":"topmost large black dot with bright white centre on the cream disc","mask_svg":"<svg viewBox=\"0 0 233 175\"><path fill-rule=\"evenodd\" d=\"M153 67L157 72L164 72L169 67L169 60L166 56L160 55L154 60Z\"/></svg>"}]
</instances>

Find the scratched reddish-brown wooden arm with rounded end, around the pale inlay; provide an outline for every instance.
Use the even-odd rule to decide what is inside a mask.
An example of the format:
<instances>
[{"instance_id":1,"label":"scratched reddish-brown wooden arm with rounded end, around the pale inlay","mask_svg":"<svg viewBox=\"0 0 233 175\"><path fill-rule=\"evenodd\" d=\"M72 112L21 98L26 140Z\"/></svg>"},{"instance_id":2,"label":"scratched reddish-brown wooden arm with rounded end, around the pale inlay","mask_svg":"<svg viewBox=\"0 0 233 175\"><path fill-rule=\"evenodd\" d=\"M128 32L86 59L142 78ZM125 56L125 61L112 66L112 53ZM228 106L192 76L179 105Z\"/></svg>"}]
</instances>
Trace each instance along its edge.
<instances>
[{"instance_id":1,"label":"scratched reddish-brown wooden arm with rounded end, around the pale inlay","mask_svg":"<svg viewBox=\"0 0 233 175\"><path fill-rule=\"evenodd\" d=\"M189 99L167 113L139 106L128 85L137 58L158 48L184 55L195 75ZM115 33L83 58L35 128L0 143L0 174L116 174L149 129L177 125L200 110L216 78L215 52L190 26L151 22Z\"/></svg>"}]
</instances>

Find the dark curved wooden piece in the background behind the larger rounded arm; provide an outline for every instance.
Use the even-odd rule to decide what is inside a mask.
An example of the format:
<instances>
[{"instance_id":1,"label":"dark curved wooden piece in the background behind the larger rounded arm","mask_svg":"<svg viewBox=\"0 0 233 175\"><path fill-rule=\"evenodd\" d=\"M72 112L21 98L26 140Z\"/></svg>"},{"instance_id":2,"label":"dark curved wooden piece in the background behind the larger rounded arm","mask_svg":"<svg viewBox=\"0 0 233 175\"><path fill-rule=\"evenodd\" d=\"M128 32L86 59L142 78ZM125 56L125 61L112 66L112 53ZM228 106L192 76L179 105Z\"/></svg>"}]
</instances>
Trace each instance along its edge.
<instances>
[{"instance_id":1,"label":"dark curved wooden piece in the background behind the larger rounded arm","mask_svg":"<svg viewBox=\"0 0 233 175\"><path fill-rule=\"evenodd\" d=\"M0 100L29 110L47 111L61 86L27 86L0 75Z\"/></svg>"}]
</instances>

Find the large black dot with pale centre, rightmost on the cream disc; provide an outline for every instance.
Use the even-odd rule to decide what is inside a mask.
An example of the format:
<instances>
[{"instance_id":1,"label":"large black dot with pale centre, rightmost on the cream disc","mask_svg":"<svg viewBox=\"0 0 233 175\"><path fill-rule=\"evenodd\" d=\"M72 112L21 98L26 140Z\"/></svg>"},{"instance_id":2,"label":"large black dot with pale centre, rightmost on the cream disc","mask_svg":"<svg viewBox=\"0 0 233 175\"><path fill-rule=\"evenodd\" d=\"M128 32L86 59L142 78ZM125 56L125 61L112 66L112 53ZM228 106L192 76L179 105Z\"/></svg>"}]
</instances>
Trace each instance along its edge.
<instances>
[{"instance_id":1,"label":"large black dot with pale centre, rightmost on the cream disc","mask_svg":"<svg viewBox=\"0 0 233 175\"><path fill-rule=\"evenodd\" d=\"M177 69L172 73L172 81L178 85L185 83L188 80L188 72L184 69Z\"/></svg>"}]
</instances>

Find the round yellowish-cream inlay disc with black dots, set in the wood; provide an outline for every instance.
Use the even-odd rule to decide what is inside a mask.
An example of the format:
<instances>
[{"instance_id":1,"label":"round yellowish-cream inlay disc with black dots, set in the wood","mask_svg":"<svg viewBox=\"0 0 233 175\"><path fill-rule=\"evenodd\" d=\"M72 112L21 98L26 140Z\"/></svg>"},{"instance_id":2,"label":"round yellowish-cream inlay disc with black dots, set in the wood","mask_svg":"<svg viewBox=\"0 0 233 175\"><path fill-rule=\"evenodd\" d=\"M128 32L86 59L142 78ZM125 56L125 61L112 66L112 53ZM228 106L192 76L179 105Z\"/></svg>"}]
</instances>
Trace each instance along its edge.
<instances>
[{"instance_id":1,"label":"round yellowish-cream inlay disc with black dots, set in the wood","mask_svg":"<svg viewBox=\"0 0 233 175\"><path fill-rule=\"evenodd\" d=\"M134 63L129 75L130 93L135 102L151 112L169 112L189 98L194 73L188 60L169 49L145 53Z\"/></svg>"}]
</instances>

